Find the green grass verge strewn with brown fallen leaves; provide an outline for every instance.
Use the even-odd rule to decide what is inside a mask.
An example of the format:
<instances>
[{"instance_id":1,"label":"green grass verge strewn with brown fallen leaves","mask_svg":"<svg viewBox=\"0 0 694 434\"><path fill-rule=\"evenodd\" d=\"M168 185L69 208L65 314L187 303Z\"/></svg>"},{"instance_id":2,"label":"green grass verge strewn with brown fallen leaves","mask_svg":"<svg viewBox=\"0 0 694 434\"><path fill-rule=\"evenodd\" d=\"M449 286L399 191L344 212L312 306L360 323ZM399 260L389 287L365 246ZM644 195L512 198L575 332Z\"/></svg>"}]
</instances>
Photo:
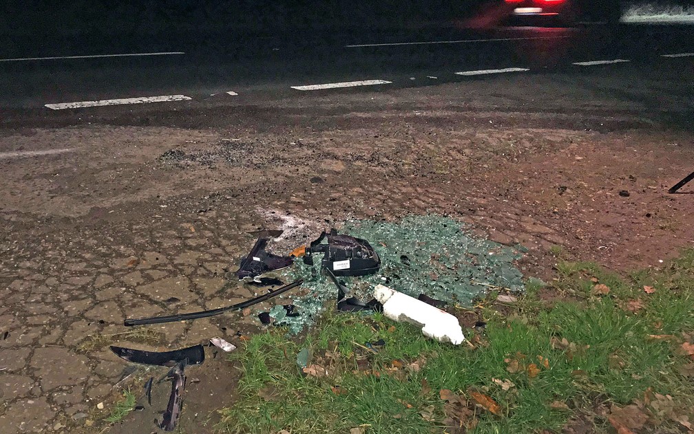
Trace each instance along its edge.
<instances>
[{"instance_id":1,"label":"green grass verge strewn with brown fallen leaves","mask_svg":"<svg viewBox=\"0 0 694 434\"><path fill-rule=\"evenodd\" d=\"M536 294L543 284L530 281L510 315L483 308L484 333L466 331L474 347L429 340L416 327L381 315L344 313L325 316L300 338L289 339L281 329L253 336L230 356L243 374L239 395L221 410L217 428L231 433L336 433L357 426L365 433L455 432L443 426L447 408L441 389L467 397L466 420L474 421L475 433L559 432L579 413L604 430L609 424L596 408L634 403L649 388L672 395L674 413L691 413L694 388L679 373L691 361L678 350L688 339L685 333L694 333L694 250L661 271L632 272L627 279L594 263L561 263L557 270L552 286L570 298L540 300ZM609 286L609 294L594 295L597 283ZM656 292L646 294L644 285ZM640 300L643 309L624 309L630 300ZM552 338L565 338L572 346L553 349ZM377 353L364 348L379 339L385 345ZM303 374L296 365L303 347L312 353L310 363L327 368L328 376ZM509 372L514 359L520 369ZM421 370L408 370L412 362ZM531 363L539 367L536 376L527 370ZM509 380L514 387L502 390L493 379ZM334 392L337 385L342 393ZM475 407L474 391L494 399L500 414ZM550 406L555 401L568 409ZM677 426L662 415L648 423Z\"/></svg>"}]
</instances>

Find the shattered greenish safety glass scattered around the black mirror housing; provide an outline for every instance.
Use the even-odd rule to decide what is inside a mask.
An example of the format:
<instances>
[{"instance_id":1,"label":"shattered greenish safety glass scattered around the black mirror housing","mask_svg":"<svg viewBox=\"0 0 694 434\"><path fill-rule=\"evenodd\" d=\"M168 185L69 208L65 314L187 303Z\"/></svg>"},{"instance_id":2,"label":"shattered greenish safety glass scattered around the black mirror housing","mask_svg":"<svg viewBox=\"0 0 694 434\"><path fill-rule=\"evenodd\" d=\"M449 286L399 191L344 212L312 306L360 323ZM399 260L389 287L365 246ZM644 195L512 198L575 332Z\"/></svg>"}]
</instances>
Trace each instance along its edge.
<instances>
[{"instance_id":1,"label":"shattered greenish safety glass scattered around the black mirror housing","mask_svg":"<svg viewBox=\"0 0 694 434\"><path fill-rule=\"evenodd\" d=\"M471 306L473 298L490 289L522 291L523 275L514 266L525 250L474 236L465 223L452 218L408 216L396 222L355 220L340 231L369 240L381 261L380 269L364 277L343 277L339 285L350 297L371 300L373 287L387 284L412 297L423 294L447 304ZM298 333L313 324L336 294L335 282L315 266L295 261L285 271L304 279L303 293L293 297L299 315L280 324ZM335 304L332 304L335 306Z\"/></svg>"}]
</instances>

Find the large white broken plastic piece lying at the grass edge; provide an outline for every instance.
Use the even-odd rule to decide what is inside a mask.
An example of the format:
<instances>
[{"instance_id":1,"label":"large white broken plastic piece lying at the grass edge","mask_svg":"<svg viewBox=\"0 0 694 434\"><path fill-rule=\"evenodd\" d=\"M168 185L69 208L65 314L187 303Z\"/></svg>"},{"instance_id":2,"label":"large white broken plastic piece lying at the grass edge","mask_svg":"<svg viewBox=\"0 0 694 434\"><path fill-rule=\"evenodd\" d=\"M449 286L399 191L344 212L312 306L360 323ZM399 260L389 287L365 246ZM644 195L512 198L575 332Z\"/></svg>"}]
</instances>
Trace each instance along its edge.
<instances>
[{"instance_id":1,"label":"large white broken plastic piece lying at the grass edge","mask_svg":"<svg viewBox=\"0 0 694 434\"><path fill-rule=\"evenodd\" d=\"M422 333L428 338L453 345L465 340L458 319L450 313L384 285L373 288L373 297L383 304L383 314L388 318L422 327Z\"/></svg>"}]
</instances>

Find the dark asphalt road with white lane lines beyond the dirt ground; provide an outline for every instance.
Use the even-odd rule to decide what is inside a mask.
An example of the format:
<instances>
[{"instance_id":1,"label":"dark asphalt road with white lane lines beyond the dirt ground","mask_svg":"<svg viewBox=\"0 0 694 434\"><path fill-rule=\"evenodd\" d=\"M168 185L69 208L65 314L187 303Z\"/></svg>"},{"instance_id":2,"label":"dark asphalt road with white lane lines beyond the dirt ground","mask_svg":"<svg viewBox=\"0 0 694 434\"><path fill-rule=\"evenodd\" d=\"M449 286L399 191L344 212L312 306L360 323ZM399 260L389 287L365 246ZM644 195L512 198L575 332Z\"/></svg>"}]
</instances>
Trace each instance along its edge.
<instances>
[{"instance_id":1,"label":"dark asphalt road with white lane lines beyond the dirt ground","mask_svg":"<svg viewBox=\"0 0 694 434\"><path fill-rule=\"evenodd\" d=\"M693 35L693 28L686 26L594 25L255 38L197 35L83 44L72 40L51 44L51 53L26 46L0 55L0 107L62 109L74 107L65 103L124 104L153 96L169 98L144 102L171 101L173 106L189 98L299 95L321 89L293 88L304 85L419 86L476 79L477 74L527 72L521 69L570 72L600 66L577 62L603 60L628 60L648 69L673 59L663 55L693 53Z\"/></svg>"}]
</instances>

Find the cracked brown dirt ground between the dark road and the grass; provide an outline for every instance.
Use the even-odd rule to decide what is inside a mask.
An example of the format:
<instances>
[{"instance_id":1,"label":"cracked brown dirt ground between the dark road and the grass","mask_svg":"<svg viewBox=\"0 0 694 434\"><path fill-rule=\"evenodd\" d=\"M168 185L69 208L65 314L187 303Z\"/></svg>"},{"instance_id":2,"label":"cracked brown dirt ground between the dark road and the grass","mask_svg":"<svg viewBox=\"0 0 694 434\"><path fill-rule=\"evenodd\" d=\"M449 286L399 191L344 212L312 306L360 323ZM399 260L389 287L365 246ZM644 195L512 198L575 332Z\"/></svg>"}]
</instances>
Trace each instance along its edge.
<instances>
[{"instance_id":1,"label":"cracked brown dirt ground between the dark road and the grass","mask_svg":"<svg viewBox=\"0 0 694 434\"><path fill-rule=\"evenodd\" d=\"M350 218L446 214L525 245L521 270L543 279L555 245L620 272L694 247L694 184L667 193L694 170L690 132L616 105L529 113L464 98L451 84L1 130L4 152L71 150L0 159L0 432L101 431L134 377L88 336L251 297L228 272L260 227L285 229L273 249L288 252ZM177 122L212 112L198 128ZM238 343L258 327L232 313L153 326L158 345L121 344ZM235 393L237 372L213 352L189 369L185 432L209 431L207 415ZM109 432L155 431L146 411Z\"/></svg>"}]
</instances>

